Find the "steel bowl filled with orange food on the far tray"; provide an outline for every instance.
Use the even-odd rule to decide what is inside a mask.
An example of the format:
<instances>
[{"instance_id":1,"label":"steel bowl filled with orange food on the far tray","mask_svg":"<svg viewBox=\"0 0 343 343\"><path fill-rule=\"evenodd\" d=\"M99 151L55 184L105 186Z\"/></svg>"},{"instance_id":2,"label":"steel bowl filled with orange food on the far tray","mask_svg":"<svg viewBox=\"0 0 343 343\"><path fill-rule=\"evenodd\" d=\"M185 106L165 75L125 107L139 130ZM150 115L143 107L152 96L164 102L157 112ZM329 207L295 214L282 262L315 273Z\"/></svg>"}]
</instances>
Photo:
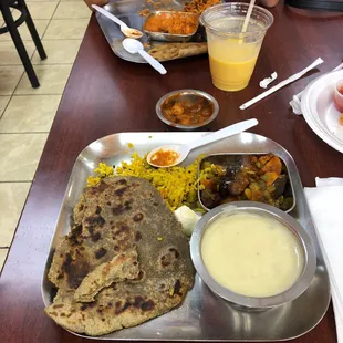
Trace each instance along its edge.
<instances>
[{"instance_id":1,"label":"steel bowl filled with orange food on the far tray","mask_svg":"<svg viewBox=\"0 0 343 343\"><path fill-rule=\"evenodd\" d=\"M152 40L187 42L198 30L198 18L191 12L156 11L147 17L143 30Z\"/></svg>"}]
</instances>

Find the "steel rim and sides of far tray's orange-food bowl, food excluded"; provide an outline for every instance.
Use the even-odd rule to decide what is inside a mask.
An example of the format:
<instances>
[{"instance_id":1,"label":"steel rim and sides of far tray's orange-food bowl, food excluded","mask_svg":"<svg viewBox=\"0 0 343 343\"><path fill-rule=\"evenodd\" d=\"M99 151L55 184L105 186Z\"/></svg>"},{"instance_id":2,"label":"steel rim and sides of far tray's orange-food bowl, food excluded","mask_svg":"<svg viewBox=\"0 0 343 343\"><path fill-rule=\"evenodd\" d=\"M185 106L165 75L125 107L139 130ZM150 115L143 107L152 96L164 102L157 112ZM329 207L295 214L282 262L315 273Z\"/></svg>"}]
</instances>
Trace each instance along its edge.
<instances>
[{"instance_id":1,"label":"steel rim and sides of far tray's orange-food bowl, food excluded","mask_svg":"<svg viewBox=\"0 0 343 343\"><path fill-rule=\"evenodd\" d=\"M146 17L145 23L148 21L149 18L159 15L163 13L183 13L185 15L197 17L197 14L191 12L180 12L180 11L155 11L152 12L149 15ZM163 33L163 32L153 32L145 30L145 23L143 25L143 31L146 33L152 40L155 41L163 41L163 42L188 42L198 31L199 28L199 20L197 20L197 25L190 34L174 34L174 33Z\"/></svg>"}]
</instances>

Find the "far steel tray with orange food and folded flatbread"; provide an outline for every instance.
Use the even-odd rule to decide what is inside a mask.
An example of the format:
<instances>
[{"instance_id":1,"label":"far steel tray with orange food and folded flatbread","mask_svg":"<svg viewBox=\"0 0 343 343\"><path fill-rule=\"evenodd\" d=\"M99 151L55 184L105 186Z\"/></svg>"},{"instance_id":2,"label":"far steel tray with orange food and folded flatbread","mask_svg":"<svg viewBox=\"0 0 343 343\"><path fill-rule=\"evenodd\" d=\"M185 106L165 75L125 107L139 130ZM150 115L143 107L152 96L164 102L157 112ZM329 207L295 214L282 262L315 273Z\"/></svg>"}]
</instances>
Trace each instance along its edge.
<instances>
[{"instance_id":1,"label":"far steel tray with orange food and folded flatbread","mask_svg":"<svg viewBox=\"0 0 343 343\"><path fill-rule=\"evenodd\" d=\"M206 8L209 6L220 3L220 0L207 0L207 1L199 1L199 0L190 0L190 1L169 1L169 0L162 0L162 1L141 1L141 0L123 0L111 2L104 7L108 12L113 13L114 15L118 17L123 20L128 27L138 29L139 31L144 31L146 21L154 14L156 11L174 11L178 12L187 12L187 14L183 14L180 18L187 15L187 18L193 18L194 15L200 14ZM135 63L146 63L144 59L141 58L138 54L131 54L124 50L122 45L122 41L124 39L123 33L119 30L119 27L114 24L111 20L96 13L96 19L98 24L111 45L113 52L123 60L135 62ZM158 19L158 18L157 18ZM196 20L198 21L198 20ZM172 29L183 28L185 27L185 22L178 20L176 22L177 25L170 24L169 27L165 27L163 23L165 20L158 22L158 25L154 24L155 30L158 32L150 32L149 30L147 33L143 34L141 42L143 43L145 50L153 55L155 59L159 61L169 61L175 59L187 58L197 54L207 53L207 43L205 39L205 30L202 27L198 28L198 23L196 22L195 28L198 28L195 32L189 31L191 34L183 34L188 33L186 31L180 32L177 34L176 31L168 33L169 27ZM173 21L175 23L175 20ZM193 27L190 28L193 29ZM156 37L159 39L165 40L158 41L154 40ZM150 39L153 38L153 39ZM167 42L166 42L167 40Z\"/></svg>"}]
</instances>

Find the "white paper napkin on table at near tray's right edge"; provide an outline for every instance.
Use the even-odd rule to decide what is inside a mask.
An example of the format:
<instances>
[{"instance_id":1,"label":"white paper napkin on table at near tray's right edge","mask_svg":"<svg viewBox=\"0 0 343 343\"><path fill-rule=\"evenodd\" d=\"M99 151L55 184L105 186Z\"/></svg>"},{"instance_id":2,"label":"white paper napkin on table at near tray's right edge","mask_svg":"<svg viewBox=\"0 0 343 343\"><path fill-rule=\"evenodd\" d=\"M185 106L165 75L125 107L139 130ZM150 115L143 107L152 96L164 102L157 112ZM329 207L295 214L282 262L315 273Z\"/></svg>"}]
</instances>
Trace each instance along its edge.
<instances>
[{"instance_id":1,"label":"white paper napkin on table at near tray's right edge","mask_svg":"<svg viewBox=\"0 0 343 343\"><path fill-rule=\"evenodd\" d=\"M339 343L343 343L343 179L315 178L305 196L318 232L331 283Z\"/></svg>"}]
</instances>

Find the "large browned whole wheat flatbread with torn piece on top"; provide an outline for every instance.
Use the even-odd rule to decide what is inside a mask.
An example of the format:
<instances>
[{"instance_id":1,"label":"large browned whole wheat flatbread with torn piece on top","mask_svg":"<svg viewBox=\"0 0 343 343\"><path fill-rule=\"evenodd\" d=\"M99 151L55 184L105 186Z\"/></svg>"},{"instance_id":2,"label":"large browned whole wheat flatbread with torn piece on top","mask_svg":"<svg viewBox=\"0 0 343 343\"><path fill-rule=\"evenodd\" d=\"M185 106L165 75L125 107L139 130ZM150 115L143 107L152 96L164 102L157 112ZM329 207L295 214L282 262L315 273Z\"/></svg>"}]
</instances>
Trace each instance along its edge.
<instances>
[{"instance_id":1,"label":"large browned whole wheat flatbread with torn piece on top","mask_svg":"<svg viewBox=\"0 0 343 343\"><path fill-rule=\"evenodd\" d=\"M143 323L177 306L194 283L188 240L147 180L105 178L85 188L49 279L45 313L89 335Z\"/></svg>"}]
</instances>

